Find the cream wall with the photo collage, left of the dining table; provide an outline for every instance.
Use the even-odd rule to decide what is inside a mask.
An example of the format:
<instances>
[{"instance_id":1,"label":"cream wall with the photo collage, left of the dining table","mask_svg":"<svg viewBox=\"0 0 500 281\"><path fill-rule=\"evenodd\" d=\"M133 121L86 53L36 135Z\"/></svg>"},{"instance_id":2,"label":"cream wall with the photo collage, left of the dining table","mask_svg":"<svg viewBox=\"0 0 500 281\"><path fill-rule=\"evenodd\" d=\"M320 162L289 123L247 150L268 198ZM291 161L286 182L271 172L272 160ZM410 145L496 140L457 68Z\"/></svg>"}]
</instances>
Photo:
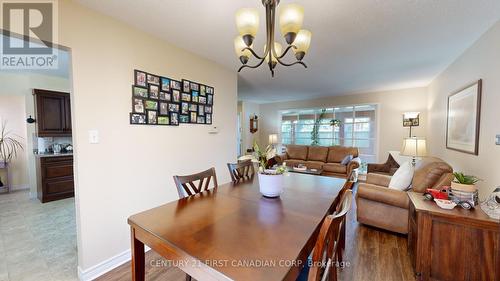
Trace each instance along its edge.
<instances>
[{"instance_id":1,"label":"cream wall with the photo collage, left of the dining table","mask_svg":"<svg viewBox=\"0 0 500 281\"><path fill-rule=\"evenodd\" d=\"M219 183L230 180L237 77L69 0L59 1L59 21L60 44L72 51L78 264L86 274L130 249L130 215L178 199L173 175L215 167ZM204 125L129 125L134 69L214 86L219 133ZM98 130L99 144L89 144L89 130Z\"/></svg>"}]
</instances>

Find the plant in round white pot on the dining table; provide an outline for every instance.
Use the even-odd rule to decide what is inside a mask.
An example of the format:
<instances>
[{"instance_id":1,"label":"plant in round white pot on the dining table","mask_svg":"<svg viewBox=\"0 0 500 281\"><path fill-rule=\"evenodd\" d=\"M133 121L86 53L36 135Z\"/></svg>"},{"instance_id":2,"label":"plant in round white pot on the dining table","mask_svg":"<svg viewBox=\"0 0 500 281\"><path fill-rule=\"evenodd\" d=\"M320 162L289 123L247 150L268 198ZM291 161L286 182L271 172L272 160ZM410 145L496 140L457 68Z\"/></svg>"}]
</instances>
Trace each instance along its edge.
<instances>
[{"instance_id":1,"label":"plant in round white pot on the dining table","mask_svg":"<svg viewBox=\"0 0 500 281\"><path fill-rule=\"evenodd\" d=\"M283 174L287 171L284 165L271 169L276 156L276 149L268 145L265 150L261 150L257 142L254 142L254 157L259 162L259 190L265 197L279 197L283 192Z\"/></svg>"}]
</instances>

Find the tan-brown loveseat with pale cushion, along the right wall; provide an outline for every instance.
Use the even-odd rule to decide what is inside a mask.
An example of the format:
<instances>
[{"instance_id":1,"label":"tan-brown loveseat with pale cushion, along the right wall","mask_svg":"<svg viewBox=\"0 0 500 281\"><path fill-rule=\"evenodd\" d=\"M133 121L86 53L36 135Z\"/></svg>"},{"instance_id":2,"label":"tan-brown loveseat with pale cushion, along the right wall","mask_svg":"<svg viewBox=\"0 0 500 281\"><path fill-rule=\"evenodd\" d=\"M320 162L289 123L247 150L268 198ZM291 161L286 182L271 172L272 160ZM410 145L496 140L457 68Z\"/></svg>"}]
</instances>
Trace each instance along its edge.
<instances>
[{"instance_id":1,"label":"tan-brown loveseat with pale cushion, along the right wall","mask_svg":"<svg viewBox=\"0 0 500 281\"><path fill-rule=\"evenodd\" d=\"M370 164L368 165L370 170ZM439 158L424 158L417 163L409 191L449 186L453 169ZM408 233L409 198L406 191L389 189L391 176L378 171L368 173L356 193L358 222L402 234Z\"/></svg>"}]
</instances>

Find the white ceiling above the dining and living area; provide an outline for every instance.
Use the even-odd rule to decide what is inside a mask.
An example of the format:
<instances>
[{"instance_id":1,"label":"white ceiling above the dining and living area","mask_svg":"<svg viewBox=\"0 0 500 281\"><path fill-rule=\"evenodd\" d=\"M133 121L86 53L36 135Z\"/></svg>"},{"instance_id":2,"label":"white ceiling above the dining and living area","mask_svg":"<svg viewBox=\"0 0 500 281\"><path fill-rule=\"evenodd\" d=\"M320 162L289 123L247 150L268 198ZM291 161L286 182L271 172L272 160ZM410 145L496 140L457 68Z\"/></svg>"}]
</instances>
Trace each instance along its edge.
<instances>
[{"instance_id":1,"label":"white ceiling above the dining and living area","mask_svg":"<svg viewBox=\"0 0 500 281\"><path fill-rule=\"evenodd\" d=\"M260 0L78 0L235 71L235 12ZM309 66L264 66L238 77L240 100L259 103L427 86L500 19L498 0L281 0L304 6ZM283 42L279 34L276 40ZM284 42L283 42L284 43ZM289 58L291 60L291 57Z\"/></svg>"}]
</instances>

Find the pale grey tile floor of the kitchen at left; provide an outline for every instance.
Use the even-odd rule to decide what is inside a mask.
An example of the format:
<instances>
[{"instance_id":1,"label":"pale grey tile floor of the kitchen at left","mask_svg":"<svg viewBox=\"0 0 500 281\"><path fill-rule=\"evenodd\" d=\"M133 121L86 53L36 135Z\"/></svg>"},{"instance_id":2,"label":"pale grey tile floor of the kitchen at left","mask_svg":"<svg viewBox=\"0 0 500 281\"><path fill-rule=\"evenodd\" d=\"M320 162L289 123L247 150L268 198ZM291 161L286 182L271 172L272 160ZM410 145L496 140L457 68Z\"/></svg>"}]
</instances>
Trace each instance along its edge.
<instances>
[{"instance_id":1,"label":"pale grey tile floor of the kitchen at left","mask_svg":"<svg viewBox=\"0 0 500 281\"><path fill-rule=\"evenodd\" d=\"M77 278L74 198L41 204L27 191L0 194L0 281Z\"/></svg>"}]
</instances>

